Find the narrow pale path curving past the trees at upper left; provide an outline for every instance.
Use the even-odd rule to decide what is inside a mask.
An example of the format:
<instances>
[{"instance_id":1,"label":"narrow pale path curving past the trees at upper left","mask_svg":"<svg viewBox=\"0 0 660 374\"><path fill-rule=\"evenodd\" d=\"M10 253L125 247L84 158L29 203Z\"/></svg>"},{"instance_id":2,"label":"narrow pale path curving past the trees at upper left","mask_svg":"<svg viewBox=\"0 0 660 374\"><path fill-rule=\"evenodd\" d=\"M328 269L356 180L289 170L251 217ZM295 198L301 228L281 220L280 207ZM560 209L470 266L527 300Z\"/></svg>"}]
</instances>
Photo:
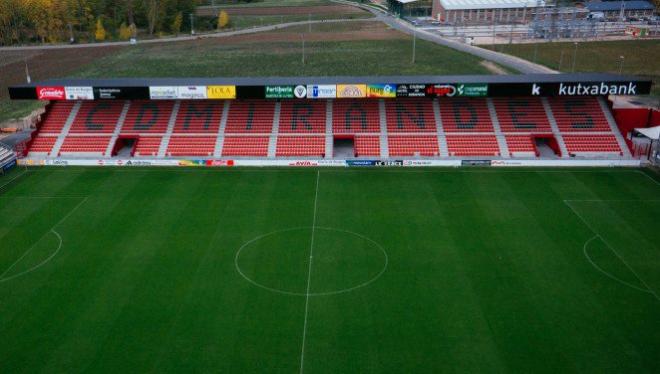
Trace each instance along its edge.
<instances>
[{"instance_id":1,"label":"narrow pale path curving past the trees at upper left","mask_svg":"<svg viewBox=\"0 0 660 374\"><path fill-rule=\"evenodd\" d=\"M236 31L226 31L226 32L215 32L208 34L197 34L195 36L177 36L171 38L159 38L159 39L146 39L138 41L138 44L154 44L154 43L170 43L170 42L182 42L187 40L196 40L203 38L226 38L236 35L246 35L246 34L255 34L264 31L273 31L284 29L292 26L302 26L309 24L319 24L319 23L340 23L340 22L380 22L380 19L375 18L357 18L357 19L327 19L327 20L315 20L315 21L298 21L298 22L287 22L279 23L269 26L260 26L252 27L248 29L241 29ZM104 42L104 43L88 43L88 44L55 44L55 45L32 45L24 47L0 47L0 52L3 51L36 51L36 50L48 50L48 49L76 49L76 48L99 48L99 47L111 47L111 46L124 46L131 45L130 42Z\"/></svg>"}]
</instances>

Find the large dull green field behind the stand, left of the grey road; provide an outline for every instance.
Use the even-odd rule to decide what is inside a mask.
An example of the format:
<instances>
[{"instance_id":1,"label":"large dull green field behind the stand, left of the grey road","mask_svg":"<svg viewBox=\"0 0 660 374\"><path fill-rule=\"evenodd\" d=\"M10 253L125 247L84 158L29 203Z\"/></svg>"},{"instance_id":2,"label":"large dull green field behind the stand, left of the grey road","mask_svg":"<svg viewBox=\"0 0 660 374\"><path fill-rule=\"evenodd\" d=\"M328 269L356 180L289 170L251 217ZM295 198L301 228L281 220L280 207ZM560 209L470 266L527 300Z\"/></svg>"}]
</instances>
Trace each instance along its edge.
<instances>
[{"instance_id":1,"label":"large dull green field behind the stand, left of the grey road","mask_svg":"<svg viewBox=\"0 0 660 374\"><path fill-rule=\"evenodd\" d=\"M175 43L125 49L86 66L76 77L272 77L339 75L488 74L477 57L409 40L203 45Z\"/></svg>"}]
</instances>

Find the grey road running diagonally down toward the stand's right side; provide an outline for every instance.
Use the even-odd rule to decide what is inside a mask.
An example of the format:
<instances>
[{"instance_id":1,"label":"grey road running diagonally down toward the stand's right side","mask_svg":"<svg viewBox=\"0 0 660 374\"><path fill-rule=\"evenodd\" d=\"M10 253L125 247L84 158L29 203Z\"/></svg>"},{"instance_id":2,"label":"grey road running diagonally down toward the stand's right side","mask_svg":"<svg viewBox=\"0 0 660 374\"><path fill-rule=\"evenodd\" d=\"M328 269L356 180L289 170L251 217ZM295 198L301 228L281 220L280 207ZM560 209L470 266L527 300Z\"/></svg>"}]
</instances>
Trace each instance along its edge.
<instances>
[{"instance_id":1,"label":"grey road running diagonally down toward the stand's right side","mask_svg":"<svg viewBox=\"0 0 660 374\"><path fill-rule=\"evenodd\" d=\"M460 43L460 42L453 41L453 40L449 40L449 39L445 39L445 38L443 38L443 37L441 37L437 34L434 34L432 32L417 29L416 27L414 27L410 23L405 22L405 21L403 21L401 19L398 19L396 17L393 17L393 16L389 15L388 13L386 13L386 12L384 12L384 11L378 9L378 8L375 8L375 7L365 6L365 5L362 5L362 4L357 4L357 3L353 3L353 2L350 2L350 1L343 1L343 0L332 0L332 1L335 2L335 3L338 3L338 4L353 5L353 6L357 6L357 7L366 9L366 10L372 12L373 14L375 14L376 17L378 18L378 20L386 23L390 27L392 27L396 30L399 30L403 33L410 34L410 35L412 35L413 33L416 33L417 37L420 38L420 39L427 40L427 41L430 41L430 42L433 42L433 43L436 43L436 44L439 44L439 45L443 45L445 47L453 48L453 49L456 49L456 50L461 51L461 52L469 53L471 55L483 58L484 60L489 60L489 61L495 62L499 65L505 66L507 68L510 68L510 69L513 69L513 70L516 70L516 71L519 71L521 73L525 73L525 74L556 74L556 73L558 73L556 70L552 70L552 69L547 68L543 65L535 64L533 62L523 60L523 59L518 58L518 57L514 57L514 56L504 54L504 53L491 51L491 50L484 49L484 48L479 48L479 47L472 46L472 45L467 45L467 44Z\"/></svg>"}]
</instances>

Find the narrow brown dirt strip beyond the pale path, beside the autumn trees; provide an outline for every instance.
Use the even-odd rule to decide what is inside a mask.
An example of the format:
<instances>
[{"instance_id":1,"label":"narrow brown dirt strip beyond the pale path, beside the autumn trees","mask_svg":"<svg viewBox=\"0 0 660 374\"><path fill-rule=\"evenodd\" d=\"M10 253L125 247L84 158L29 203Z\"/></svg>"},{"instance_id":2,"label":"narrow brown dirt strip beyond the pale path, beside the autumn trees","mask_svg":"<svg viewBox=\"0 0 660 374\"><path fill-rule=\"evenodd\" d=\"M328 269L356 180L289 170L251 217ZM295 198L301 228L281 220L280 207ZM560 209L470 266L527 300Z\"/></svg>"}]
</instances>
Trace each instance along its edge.
<instances>
[{"instance_id":1,"label":"narrow brown dirt strip beyond the pale path, beside the autumn trees","mask_svg":"<svg viewBox=\"0 0 660 374\"><path fill-rule=\"evenodd\" d=\"M197 8L198 16L215 17L219 8ZM348 5L318 5L318 6L275 6L275 7L236 7L222 8L229 16L265 16L290 14L359 14L363 10Z\"/></svg>"}]
</instances>

